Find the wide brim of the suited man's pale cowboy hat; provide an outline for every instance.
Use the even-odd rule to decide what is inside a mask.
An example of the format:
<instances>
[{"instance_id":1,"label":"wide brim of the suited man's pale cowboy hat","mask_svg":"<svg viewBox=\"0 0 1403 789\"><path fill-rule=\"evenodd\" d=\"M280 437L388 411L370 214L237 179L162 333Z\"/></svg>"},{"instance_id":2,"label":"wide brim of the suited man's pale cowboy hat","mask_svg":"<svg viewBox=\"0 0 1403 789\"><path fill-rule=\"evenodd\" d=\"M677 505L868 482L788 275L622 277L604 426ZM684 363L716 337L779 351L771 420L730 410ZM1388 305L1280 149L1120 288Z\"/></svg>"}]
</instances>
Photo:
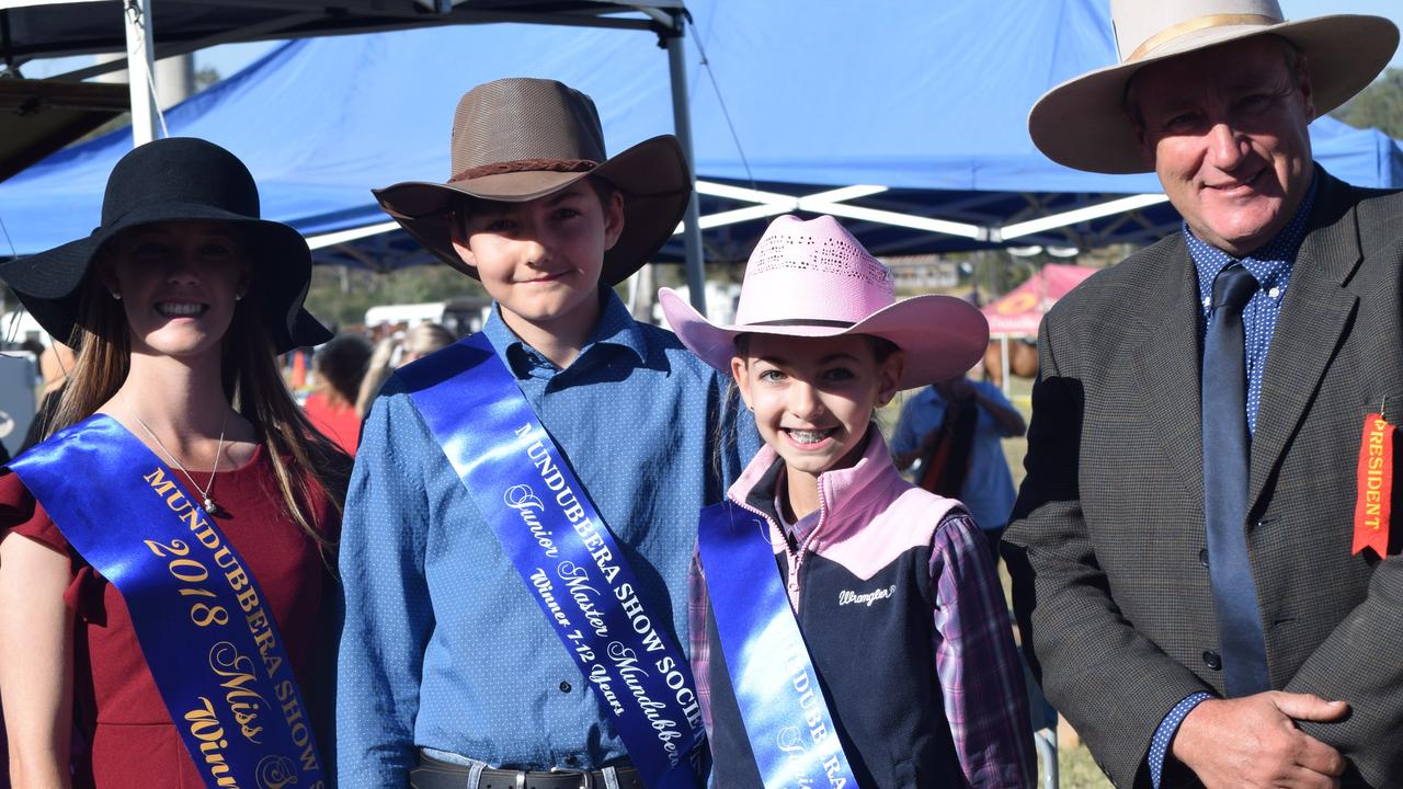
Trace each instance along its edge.
<instances>
[{"instance_id":1,"label":"wide brim of the suited man's pale cowboy hat","mask_svg":"<svg viewBox=\"0 0 1403 789\"><path fill-rule=\"evenodd\" d=\"M1275 25L1222 25L1184 34L1153 55L1073 77L1042 94L1028 112L1033 143L1052 161L1092 173L1149 173L1122 105L1127 83L1152 63L1243 41L1277 35L1305 53L1316 117L1364 90L1388 66L1399 29L1383 17L1331 14Z\"/></svg>"}]
</instances>

